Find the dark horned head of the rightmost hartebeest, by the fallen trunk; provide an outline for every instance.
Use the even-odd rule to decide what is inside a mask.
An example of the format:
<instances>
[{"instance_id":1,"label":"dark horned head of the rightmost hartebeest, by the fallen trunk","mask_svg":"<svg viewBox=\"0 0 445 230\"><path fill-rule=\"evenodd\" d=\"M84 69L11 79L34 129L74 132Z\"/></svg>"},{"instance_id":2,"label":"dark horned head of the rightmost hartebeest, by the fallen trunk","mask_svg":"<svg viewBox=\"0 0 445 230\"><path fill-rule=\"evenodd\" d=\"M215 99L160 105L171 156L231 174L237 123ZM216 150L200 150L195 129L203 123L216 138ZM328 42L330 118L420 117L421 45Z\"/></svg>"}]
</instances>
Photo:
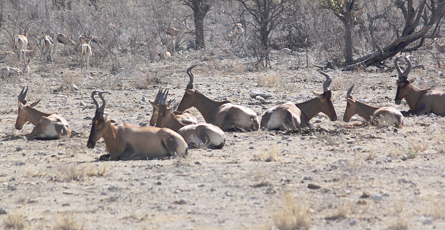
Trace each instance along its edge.
<instances>
[{"instance_id":1,"label":"dark horned head of the rightmost hartebeest, by the fallen trunk","mask_svg":"<svg viewBox=\"0 0 445 230\"><path fill-rule=\"evenodd\" d=\"M409 57L411 56L411 55L407 55L407 56L405 56L405 61L406 61L406 63L407 63L407 65L408 65L408 67L406 68L406 70L405 71L403 71L402 72L402 70L401 70L401 68L400 68L400 66L399 66L399 64L398 64L398 61L399 61L399 59L402 57L403 55L401 55L401 56L398 56L395 60L394 60L394 66L396 67L396 71L397 71L397 74L398 74L398 79L397 79L397 92L396 92L396 98L394 99L394 102L397 104L397 105L400 105L400 103L402 102L402 99L404 99L405 97L406 97L406 95L407 95L407 88L408 87L410 87L410 84L411 83L414 83L415 81L416 81L416 78L413 78L413 79L408 79L408 74L409 74L409 71L411 71L411 60L409 60Z\"/></svg>"}]
</instances>

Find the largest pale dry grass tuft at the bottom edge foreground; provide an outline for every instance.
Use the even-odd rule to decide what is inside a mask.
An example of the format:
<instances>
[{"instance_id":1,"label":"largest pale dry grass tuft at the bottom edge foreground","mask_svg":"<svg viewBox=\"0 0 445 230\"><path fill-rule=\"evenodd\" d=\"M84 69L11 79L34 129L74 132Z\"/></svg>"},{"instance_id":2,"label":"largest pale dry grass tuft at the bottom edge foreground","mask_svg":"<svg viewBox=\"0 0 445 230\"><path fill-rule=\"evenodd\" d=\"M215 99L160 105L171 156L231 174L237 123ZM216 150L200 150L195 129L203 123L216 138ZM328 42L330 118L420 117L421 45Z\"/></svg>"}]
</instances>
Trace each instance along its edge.
<instances>
[{"instance_id":1,"label":"largest pale dry grass tuft at the bottom edge foreground","mask_svg":"<svg viewBox=\"0 0 445 230\"><path fill-rule=\"evenodd\" d=\"M287 192L282 197L283 208L278 210L272 221L279 230L307 230L311 227L309 208L297 204L293 193Z\"/></svg>"}]
</instances>

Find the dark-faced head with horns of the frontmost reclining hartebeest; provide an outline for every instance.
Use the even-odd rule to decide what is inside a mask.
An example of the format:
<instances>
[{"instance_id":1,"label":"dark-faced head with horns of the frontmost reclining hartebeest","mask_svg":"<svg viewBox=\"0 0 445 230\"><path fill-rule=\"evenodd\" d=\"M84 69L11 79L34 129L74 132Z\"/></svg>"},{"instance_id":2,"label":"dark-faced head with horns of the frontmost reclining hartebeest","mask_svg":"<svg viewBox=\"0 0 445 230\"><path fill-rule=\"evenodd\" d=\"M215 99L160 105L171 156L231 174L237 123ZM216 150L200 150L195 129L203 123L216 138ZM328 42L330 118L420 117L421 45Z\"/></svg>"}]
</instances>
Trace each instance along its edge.
<instances>
[{"instance_id":1,"label":"dark-faced head with horns of the frontmost reclining hartebeest","mask_svg":"<svg viewBox=\"0 0 445 230\"><path fill-rule=\"evenodd\" d=\"M108 93L108 91L95 90L91 93L91 98L93 98L93 102L96 105L96 114L93 117L93 122L91 125L91 131L89 133L89 138L87 142L87 147L92 149L96 146L96 142L104 136L109 126L106 123L109 122L108 117L104 116L105 109L105 99L102 94ZM94 95L98 94L102 100L102 106L99 107L99 103L94 98Z\"/></svg>"}]
</instances>

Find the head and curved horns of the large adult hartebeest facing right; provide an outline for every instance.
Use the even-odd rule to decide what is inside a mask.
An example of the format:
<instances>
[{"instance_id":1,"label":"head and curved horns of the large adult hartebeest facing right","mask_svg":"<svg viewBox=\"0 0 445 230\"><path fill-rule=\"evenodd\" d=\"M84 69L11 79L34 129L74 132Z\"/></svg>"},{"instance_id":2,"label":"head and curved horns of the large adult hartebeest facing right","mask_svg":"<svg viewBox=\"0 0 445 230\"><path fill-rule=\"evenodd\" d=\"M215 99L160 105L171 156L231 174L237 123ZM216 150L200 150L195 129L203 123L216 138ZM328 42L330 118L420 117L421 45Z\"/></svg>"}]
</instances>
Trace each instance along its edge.
<instances>
[{"instance_id":1,"label":"head and curved horns of the large adult hartebeest facing right","mask_svg":"<svg viewBox=\"0 0 445 230\"><path fill-rule=\"evenodd\" d=\"M332 77L323 71L318 71L322 75L326 77L326 80L323 83L323 94L317 93L316 91L311 90L311 92L320 99L319 108L321 112L328 115L331 121L337 120L337 113L334 109L334 105L332 104L332 91L329 89L329 86L332 83Z\"/></svg>"}]
</instances>

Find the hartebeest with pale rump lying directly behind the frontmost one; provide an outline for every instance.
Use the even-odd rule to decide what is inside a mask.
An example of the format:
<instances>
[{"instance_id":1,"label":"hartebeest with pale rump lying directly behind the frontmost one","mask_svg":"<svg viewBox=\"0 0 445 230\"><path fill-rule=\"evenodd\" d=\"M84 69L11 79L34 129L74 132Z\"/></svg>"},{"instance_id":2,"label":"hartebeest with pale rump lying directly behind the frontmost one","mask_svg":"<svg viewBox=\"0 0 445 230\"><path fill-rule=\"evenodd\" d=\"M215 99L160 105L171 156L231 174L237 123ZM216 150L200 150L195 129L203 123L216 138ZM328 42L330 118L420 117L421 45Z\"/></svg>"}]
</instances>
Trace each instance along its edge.
<instances>
[{"instance_id":1,"label":"hartebeest with pale rump lying directly behind the frontmost one","mask_svg":"<svg viewBox=\"0 0 445 230\"><path fill-rule=\"evenodd\" d=\"M150 102L153 107L158 108L158 120L156 127L167 127L178 132L189 145L189 148L213 148L221 149L226 144L226 135L216 125L209 123L186 125L178 121L173 114L178 108L178 104L170 107L167 103L168 89L166 89L158 103Z\"/></svg>"}]
</instances>

